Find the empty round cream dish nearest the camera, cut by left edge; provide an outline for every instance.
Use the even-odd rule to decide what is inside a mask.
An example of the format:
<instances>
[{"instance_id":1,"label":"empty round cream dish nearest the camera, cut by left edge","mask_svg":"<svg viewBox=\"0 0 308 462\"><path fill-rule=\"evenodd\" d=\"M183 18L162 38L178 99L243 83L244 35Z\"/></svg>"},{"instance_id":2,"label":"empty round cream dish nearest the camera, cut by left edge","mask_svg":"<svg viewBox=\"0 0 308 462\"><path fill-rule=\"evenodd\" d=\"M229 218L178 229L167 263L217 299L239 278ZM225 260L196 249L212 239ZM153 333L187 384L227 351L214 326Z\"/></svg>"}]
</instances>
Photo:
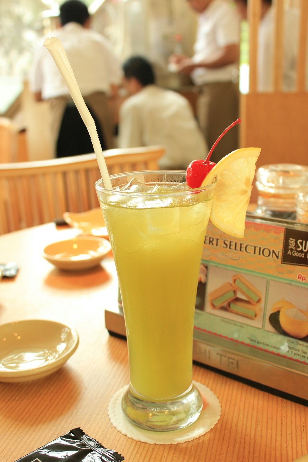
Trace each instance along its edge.
<instances>
[{"instance_id":1,"label":"empty round cream dish nearest the camera, cut by left edge","mask_svg":"<svg viewBox=\"0 0 308 462\"><path fill-rule=\"evenodd\" d=\"M25 382L60 369L79 343L75 329L30 319L0 325L0 381Z\"/></svg>"}]
</instances>

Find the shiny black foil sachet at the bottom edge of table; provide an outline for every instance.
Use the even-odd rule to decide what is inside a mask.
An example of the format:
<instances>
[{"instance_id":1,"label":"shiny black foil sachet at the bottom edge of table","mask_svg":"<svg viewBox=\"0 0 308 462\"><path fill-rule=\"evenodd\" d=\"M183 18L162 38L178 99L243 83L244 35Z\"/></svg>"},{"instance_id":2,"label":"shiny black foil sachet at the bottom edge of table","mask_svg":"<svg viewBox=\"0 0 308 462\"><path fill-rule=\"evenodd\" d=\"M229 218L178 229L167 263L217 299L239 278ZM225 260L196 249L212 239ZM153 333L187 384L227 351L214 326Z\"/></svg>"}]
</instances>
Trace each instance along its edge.
<instances>
[{"instance_id":1,"label":"shiny black foil sachet at the bottom edge of table","mask_svg":"<svg viewBox=\"0 0 308 462\"><path fill-rule=\"evenodd\" d=\"M81 428L74 428L51 443L30 452L15 462L121 462L124 457L112 449L106 449Z\"/></svg>"}]
</instances>

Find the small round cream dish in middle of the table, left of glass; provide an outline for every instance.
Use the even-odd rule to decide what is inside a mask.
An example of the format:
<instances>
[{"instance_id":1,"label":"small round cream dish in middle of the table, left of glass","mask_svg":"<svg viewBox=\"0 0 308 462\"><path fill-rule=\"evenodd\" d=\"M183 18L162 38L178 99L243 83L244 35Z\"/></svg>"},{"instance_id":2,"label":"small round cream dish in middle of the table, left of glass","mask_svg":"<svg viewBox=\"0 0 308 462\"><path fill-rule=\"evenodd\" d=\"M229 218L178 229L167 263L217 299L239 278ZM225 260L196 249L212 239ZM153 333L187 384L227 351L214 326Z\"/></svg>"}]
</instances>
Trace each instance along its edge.
<instances>
[{"instance_id":1,"label":"small round cream dish in middle of the table, left of glass","mask_svg":"<svg viewBox=\"0 0 308 462\"><path fill-rule=\"evenodd\" d=\"M77 236L47 245L42 255L54 266L74 271L99 265L110 249L102 237Z\"/></svg>"}]
</instances>

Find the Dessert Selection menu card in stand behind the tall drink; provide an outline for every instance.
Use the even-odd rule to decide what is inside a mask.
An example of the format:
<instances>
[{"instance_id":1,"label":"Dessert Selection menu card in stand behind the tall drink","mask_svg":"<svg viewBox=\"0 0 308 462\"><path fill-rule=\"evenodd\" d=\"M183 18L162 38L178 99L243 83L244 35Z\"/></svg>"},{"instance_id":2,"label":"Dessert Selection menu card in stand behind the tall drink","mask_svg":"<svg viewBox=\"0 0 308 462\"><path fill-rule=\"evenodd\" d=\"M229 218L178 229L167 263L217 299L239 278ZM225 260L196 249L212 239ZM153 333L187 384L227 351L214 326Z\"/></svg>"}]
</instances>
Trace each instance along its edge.
<instances>
[{"instance_id":1,"label":"Dessert Selection menu card in stand behind the tall drink","mask_svg":"<svg viewBox=\"0 0 308 462\"><path fill-rule=\"evenodd\" d=\"M125 336L121 298L105 320ZM308 225L247 214L239 239L209 223L193 359L308 399Z\"/></svg>"}]
</instances>

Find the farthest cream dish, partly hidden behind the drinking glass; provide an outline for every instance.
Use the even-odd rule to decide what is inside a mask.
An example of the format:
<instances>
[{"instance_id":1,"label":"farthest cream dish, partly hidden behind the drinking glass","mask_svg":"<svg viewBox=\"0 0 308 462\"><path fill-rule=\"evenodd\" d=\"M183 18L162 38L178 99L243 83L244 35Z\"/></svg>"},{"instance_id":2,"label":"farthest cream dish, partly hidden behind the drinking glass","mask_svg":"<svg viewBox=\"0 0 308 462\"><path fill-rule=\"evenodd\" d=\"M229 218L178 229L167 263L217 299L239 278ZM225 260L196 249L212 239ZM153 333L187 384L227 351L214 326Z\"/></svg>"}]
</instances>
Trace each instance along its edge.
<instances>
[{"instance_id":1,"label":"farthest cream dish, partly hidden behind the drinking glass","mask_svg":"<svg viewBox=\"0 0 308 462\"><path fill-rule=\"evenodd\" d=\"M105 220L100 208L93 208L82 213L65 212L63 219L68 225L79 229L83 234L108 238Z\"/></svg>"}]
</instances>

